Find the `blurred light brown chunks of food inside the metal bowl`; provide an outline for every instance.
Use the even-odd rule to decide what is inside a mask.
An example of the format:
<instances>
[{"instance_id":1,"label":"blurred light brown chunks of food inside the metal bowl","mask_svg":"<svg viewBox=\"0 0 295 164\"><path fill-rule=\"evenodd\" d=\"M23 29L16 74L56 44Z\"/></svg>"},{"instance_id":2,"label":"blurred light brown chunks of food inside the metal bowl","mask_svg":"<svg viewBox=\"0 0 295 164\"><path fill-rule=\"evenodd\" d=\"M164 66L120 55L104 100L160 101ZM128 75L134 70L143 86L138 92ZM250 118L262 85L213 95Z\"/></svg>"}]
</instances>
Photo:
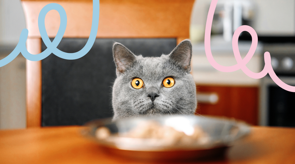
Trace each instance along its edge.
<instances>
[{"instance_id":1,"label":"blurred light brown chunks of food inside the metal bowl","mask_svg":"<svg viewBox=\"0 0 295 164\"><path fill-rule=\"evenodd\" d=\"M143 139L161 139L163 145L191 145L206 144L208 135L198 126L195 126L191 134L185 134L170 126L160 125L156 121L144 121L128 132L116 134L119 137L143 138ZM96 130L96 137L106 139L110 132L106 127L100 127Z\"/></svg>"}]
</instances>

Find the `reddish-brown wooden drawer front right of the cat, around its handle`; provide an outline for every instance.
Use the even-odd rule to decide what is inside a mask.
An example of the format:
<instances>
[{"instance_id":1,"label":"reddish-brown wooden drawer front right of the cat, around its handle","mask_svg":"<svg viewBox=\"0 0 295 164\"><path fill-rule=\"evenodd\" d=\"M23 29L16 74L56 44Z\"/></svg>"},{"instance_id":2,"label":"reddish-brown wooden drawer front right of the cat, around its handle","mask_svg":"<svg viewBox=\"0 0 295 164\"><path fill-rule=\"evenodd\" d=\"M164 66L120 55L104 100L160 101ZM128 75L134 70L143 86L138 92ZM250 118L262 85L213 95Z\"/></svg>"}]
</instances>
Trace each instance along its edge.
<instances>
[{"instance_id":1,"label":"reddish-brown wooden drawer front right of the cat, around its handle","mask_svg":"<svg viewBox=\"0 0 295 164\"><path fill-rule=\"evenodd\" d=\"M216 93L216 104L198 102L201 115L233 117L249 124L258 124L258 87L196 85L198 93Z\"/></svg>"}]
</instances>

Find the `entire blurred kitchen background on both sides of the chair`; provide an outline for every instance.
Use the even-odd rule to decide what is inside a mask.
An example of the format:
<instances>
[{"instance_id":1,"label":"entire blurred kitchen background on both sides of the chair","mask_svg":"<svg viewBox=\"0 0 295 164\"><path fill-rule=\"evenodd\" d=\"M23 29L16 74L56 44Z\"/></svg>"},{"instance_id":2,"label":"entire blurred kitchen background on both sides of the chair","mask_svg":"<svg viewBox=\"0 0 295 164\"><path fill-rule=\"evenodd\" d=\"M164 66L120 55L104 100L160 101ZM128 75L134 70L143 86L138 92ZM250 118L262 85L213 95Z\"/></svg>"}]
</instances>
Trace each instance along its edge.
<instances>
[{"instance_id":1,"label":"entire blurred kitchen background on both sides of the chair","mask_svg":"<svg viewBox=\"0 0 295 164\"><path fill-rule=\"evenodd\" d=\"M211 0L197 0L191 15L192 68L198 91L197 113L232 117L253 125L295 126L295 95L279 88L267 75L253 79L242 70L224 73L208 62L204 31ZM217 63L235 65L231 38L241 25L253 27L258 46L247 67L260 72L263 53L271 54L279 78L295 86L295 0L219 0L214 13L211 49ZM25 19L19 0L0 0L0 59L19 41ZM240 35L239 50L248 53L251 37ZM25 58L19 55L0 68L0 129L26 127Z\"/></svg>"}]
</instances>

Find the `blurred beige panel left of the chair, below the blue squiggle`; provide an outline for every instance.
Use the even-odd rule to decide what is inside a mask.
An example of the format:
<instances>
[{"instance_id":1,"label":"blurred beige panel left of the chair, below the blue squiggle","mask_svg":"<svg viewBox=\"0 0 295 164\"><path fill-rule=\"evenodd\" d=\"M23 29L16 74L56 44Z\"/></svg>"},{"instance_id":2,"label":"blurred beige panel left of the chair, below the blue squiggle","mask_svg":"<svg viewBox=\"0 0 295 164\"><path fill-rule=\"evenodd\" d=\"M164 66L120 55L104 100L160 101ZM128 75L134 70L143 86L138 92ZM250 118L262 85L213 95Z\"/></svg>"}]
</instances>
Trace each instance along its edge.
<instances>
[{"instance_id":1,"label":"blurred beige panel left of the chair, below the blue squiggle","mask_svg":"<svg viewBox=\"0 0 295 164\"><path fill-rule=\"evenodd\" d=\"M0 67L0 129L26 127L25 76L25 58L22 55Z\"/></svg>"}]
</instances>

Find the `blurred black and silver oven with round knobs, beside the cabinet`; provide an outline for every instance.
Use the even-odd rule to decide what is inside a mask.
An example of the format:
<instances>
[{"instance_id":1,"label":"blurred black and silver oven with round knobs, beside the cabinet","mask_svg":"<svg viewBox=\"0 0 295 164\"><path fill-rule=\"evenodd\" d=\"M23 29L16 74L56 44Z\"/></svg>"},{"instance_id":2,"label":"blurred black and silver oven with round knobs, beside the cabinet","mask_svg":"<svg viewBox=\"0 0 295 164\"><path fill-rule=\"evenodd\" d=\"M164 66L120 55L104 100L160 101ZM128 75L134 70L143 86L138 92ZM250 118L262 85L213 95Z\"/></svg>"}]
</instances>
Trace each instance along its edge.
<instances>
[{"instance_id":1,"label":"blurred black and silver oven with round knobs, beside the cabinet","mask_svg":"<svg viewBox=\"0 0 295 164\"><path fill-rule=\"evenodd\" d=\"M295 43L265 44L266 51L276 75L295 86ZM261 79L259 117L260 125L295 127L295 93L280 88L268 74Z\"/></svg>"}]
</instances>

